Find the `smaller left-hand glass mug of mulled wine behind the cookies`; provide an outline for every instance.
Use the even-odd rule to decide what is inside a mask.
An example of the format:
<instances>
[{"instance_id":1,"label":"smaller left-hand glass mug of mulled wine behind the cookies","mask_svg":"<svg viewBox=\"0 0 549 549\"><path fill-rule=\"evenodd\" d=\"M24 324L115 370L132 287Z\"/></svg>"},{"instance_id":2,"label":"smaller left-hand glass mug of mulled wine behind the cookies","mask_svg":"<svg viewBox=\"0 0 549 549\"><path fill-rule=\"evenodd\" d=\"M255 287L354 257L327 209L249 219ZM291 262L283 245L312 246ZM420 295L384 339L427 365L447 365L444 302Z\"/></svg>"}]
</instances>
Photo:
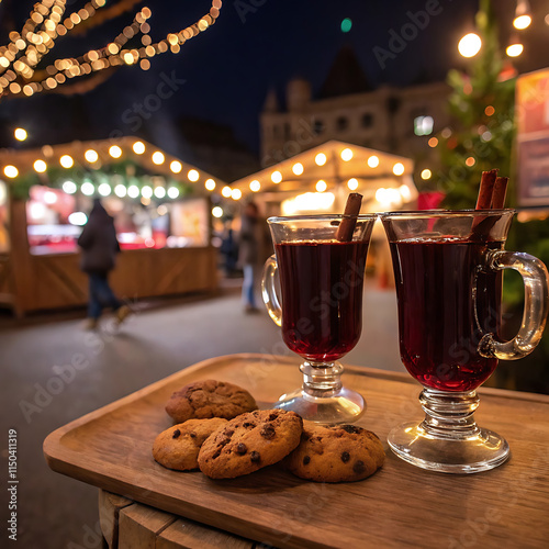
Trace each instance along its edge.
<instances>
[{"instance_id":1,"label":"smaller left-hand glass mug of mulled wine behind the cookies","mask_svg":"<svg viewBox=\"0 0 549 549\"><path fill-rule=\"evenodd\" d=\"M302 388L283 394L276 407L324 424L355 422L365 412L363 397L343 386L338 360L360 338L366 257L376 219L302 215L267 220L274 255L265 264L264 302L282 328L285 345L304 359ZM349 221L354 228L348 242L340 242L337 229Z\"/></svg>"}]
</instances>

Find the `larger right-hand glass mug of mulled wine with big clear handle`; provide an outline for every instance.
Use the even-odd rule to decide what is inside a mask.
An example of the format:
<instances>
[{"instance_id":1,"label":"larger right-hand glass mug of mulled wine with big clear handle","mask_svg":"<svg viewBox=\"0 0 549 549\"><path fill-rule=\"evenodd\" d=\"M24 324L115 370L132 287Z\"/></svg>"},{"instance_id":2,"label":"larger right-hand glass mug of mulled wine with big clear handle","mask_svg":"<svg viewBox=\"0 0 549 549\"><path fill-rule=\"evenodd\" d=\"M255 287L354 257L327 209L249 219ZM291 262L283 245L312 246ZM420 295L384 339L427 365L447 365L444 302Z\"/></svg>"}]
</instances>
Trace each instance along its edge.
<instances>
[{"instance_id":1,"label":"larger right-hand glass mug of mulled wine with big clear handle","mask_svg":"<svg viewBox=\"0 0 549 549\"><path fill-rule=\"evenodd\" d=\"M423 385L425 419L389 434L391 449L423 469L471 473L509 456L506 440L473 418L475 389L498 359L534 350L549 295L545 265L503 249L514 210L393 212L381 215L395 274L401 358ZM514 339L501 341L503 270L523 276L525 310Z\"/></svg>"}]
</instances>

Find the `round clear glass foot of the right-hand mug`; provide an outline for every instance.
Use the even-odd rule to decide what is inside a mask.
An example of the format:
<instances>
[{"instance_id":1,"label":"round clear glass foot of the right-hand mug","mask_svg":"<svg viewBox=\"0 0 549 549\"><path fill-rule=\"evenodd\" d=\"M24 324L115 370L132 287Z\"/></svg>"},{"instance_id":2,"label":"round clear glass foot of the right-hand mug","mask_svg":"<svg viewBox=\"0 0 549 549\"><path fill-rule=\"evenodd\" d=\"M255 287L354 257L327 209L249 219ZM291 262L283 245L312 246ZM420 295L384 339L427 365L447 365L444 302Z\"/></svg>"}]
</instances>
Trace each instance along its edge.
<instances>
[{"instance_id":1,"label":"round clear glass foot of the right-hand mug","mask_svg":"<svg viewBox=\"0 0 549 549\"><path fill-rule=\"evenodd\" d=\"M468 436L450 438L432 433L424 423L406 423L391 430L388 442L404 461L442 473L488 471L509 457L503 437L478 427Z\"/></svg>"}]
</instances>

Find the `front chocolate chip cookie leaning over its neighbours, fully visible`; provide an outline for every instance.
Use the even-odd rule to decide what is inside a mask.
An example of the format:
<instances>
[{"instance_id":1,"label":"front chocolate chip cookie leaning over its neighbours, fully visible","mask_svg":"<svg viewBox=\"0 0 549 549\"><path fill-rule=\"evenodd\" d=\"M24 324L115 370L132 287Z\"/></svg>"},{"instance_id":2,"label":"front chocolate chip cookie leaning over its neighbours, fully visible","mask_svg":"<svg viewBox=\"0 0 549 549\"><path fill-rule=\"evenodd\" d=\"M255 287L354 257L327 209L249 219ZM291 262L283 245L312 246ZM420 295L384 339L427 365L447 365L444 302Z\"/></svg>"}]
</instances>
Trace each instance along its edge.
<instances>
[{"instance_id":1,"label":"front chocolate chip cookie leaning over its neighbours, fully visible","mask_svg":"<svg viewBox=\"0 0 549 549\"><path fill-rule=\"evenodd\" d=\"M303 421L295 412L262 410L239 415L202 445L200 470L212 479L233 479L277 463L299 444Z\"/></svg>"}]
</instances>

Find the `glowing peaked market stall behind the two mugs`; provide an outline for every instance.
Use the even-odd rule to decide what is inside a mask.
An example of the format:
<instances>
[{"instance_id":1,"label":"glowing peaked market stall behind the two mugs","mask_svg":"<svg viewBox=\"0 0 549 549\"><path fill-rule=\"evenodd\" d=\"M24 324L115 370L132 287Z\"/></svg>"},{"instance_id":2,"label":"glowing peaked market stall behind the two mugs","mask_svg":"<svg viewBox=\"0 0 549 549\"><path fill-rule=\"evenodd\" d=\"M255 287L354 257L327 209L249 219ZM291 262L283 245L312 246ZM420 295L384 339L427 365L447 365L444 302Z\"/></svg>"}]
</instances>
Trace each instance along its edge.
<instances>
[{"instance_id":1,"label":"glowing peaked market stall behind the two mugs","mask_svg":"<svg viewBox=\"0 0 549 549\"><path fill-rule=\"evenodd\" d=\"M265 216L341 213L349 192L362 194L361 213L413 209L417 188L410 158L371 148L329 141L232 184L253 199ZM377 223L368 270L378 284L392 285L389 245Z\"/></svg>"}]
</instances>

